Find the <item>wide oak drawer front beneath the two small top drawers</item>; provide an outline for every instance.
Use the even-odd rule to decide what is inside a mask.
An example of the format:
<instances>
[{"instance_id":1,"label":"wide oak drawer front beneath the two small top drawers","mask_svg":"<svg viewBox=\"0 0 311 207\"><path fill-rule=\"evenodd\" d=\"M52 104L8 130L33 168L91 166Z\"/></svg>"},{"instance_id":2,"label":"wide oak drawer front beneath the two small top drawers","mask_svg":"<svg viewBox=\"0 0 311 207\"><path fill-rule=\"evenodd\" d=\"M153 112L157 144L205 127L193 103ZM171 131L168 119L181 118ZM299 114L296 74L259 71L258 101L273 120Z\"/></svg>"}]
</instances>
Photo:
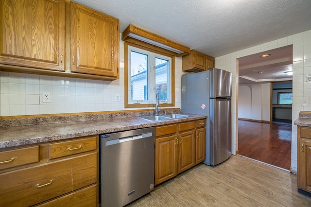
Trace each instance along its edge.
<instances>
[{"instance_id":1,"label":"wide oak drawer front beneath the two small top drawers","mask_svg":"<svg viewBox=\"0 0 311 207\"><path fill-rule=\"evenodd\" d=\"M0 206L32 206L97 182L97 152L0 174Z\"/></svg>"}]
</instances>

